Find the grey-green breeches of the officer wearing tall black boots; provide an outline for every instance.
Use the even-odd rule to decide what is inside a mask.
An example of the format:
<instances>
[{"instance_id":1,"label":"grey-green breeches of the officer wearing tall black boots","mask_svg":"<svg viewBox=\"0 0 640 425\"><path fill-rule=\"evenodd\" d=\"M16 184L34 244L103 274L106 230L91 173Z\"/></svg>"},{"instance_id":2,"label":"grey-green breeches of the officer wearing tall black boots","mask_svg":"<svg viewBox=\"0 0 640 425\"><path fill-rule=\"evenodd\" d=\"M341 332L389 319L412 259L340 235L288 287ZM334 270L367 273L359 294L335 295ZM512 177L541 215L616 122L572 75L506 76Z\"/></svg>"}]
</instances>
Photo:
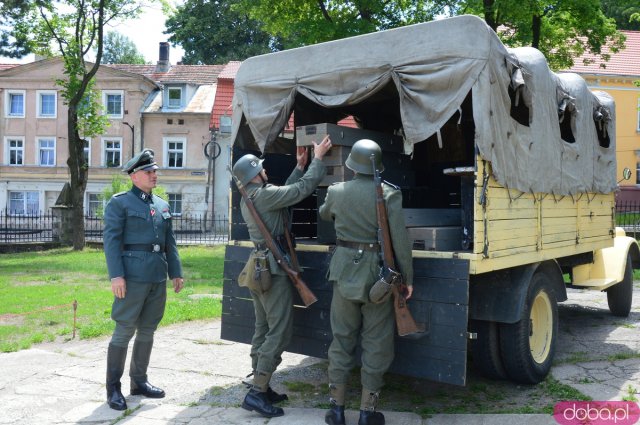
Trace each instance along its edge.
<instances>
[{"instance_id":1,"label":"grey-green breeches of the officer wearing tall black boots","mask_svg":"<svg viewBox=\"0 0 640 425\"><path fill-rule=\"evenodd\" d=\"M124 298L114 298L111 307L111 318L116 322L111 344L127 347L134 333L140 342L153 341L166 302L166 282L127 282L127 294Z\"/></svg>"}]
</instances>

